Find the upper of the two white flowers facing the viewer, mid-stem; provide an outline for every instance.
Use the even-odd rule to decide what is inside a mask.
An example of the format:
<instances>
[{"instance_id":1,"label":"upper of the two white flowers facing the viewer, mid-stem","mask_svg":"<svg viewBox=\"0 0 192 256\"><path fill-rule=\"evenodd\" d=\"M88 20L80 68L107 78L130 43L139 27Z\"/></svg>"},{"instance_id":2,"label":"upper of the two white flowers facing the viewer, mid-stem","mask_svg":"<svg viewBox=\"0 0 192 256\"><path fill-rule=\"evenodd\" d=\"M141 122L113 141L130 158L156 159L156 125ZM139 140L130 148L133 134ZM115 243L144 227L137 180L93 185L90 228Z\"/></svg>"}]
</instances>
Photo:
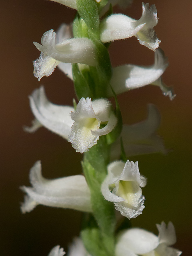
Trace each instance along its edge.
<instances>
[{"instance_id":1,"label":"upper of the two white flowers facing the viewer, mid-stem","mask_svg":"<svg viewBox=\"0 0 192 256\"><path fill-rule=\"evenodd\" d=\"M97 143L99 136L111 132L117 123L111 103L106 99L92 102L90 98L81 98L71 118L74 123L68 141L80 153L88 151ZM107 124L100 129L102 122Z\"/></svg>"}]
</instances>

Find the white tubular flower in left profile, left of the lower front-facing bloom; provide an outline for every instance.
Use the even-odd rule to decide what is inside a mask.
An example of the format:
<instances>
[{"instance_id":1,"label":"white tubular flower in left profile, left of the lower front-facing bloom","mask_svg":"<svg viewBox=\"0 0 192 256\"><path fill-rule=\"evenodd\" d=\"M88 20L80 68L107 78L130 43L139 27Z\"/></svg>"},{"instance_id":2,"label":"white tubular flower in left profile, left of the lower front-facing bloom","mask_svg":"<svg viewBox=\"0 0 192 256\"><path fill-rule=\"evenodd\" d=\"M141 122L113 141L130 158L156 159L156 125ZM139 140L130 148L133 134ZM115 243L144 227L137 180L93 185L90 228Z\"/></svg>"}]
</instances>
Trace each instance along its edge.
<instances>
[{"instance_id":1,"label":"white tubular flower in left profile, left of the lower front-facing bloom","mask_svg":"<svg viewBox=\"0 0 192 256\"><path fill-rule=\"evenodd\" d=\"M48 180L42 176L41 163L37 161L30 170L32 187L22 186L26 192L22 213L32 211L38 204L92 212L90 190L83 175Z\"/></svg>"}]
</instances>

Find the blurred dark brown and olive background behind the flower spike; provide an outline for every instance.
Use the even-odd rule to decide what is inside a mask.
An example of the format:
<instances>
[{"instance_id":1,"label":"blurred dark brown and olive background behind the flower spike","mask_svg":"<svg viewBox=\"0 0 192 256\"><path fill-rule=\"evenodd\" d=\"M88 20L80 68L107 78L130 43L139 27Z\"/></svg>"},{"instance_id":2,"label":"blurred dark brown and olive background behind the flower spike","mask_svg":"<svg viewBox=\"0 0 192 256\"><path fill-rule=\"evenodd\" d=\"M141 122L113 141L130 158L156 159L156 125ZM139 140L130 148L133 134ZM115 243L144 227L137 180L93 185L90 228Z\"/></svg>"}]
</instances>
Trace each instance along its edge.
<instances>
[{"instance_id":1,"label":"blurred dark brown and olive background behind the flower spike","mask_svg":"<svg viewBox=\"0 0 192 256\"><path fill-rule=\"evenodd\" d=\"M133 226L156 232L156 223L171 220L178 242L175 247L183 255L191 255L191 11L190 0L153 0L159 23L155 30L160 47L169 58L170 66L163 78L174 85L176 98L171 102L159 88L146 86L119 96L124 123L132 124L146 118L147 104L154 103L162 115L158 133L164 138L166 156L136 156L140 172L148 177L143 190L146 208L132 220ZM119 11L119 10L117 10ZM134 0L124 12L140 18L142 3ZM43 84L50 101L71 105L74 97L72 82L56 69L52 76L38 82L33 76L32 60L40 52L32 44L40 42L44 32L56 30L62 22L72 22L74 10L46 0L1 1L1 237L0 255L46 256L56 244L67 248L72 236L78 235L81 214L38 206L22 215L19 202L23 193L19 186L29 185L28 173L36 160L42 161L43 175L56 178L80 173L81 154L71 145L41 128L27 134L23 125L30 125L33 115L28 95ZM154 53L141 46L136 38L114 42L110 46L112 64L152 64ZM156 232L157 233L157 232Z\"/></svg>"}]
</instances>

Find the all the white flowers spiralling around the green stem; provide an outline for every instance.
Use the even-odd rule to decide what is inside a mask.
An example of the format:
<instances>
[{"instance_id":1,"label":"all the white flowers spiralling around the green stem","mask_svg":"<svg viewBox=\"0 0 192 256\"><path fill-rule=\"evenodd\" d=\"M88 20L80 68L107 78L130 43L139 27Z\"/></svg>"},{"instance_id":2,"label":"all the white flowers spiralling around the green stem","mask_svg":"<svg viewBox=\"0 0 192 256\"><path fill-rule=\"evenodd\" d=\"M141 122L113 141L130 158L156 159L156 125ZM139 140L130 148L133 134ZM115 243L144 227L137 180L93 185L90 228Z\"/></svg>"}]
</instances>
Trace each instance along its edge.
<instances>
[{"instance_id":1,"label":"all the white flowers spiralling around the green stem","mask_svg":"<svg viewBox=\"0 0 192 256\"><path fill-rule=\"evenodd\" d=\"M77 8L76 0L53 0L70 8ZM100 2L100 0L96 0ZM100 12L100 17L107 12L110 5L129 5L132 0L109 0ZM99 36L102 43L135 36L140 44L154 51L154 64L143 67L127 64L112 69L112 77L106 88L106 97L113 93L120 94L127 90L153 84L159 86L170 99L174 98L172 88L167 87L161 79L168 62L161 49L160 40L154 32L158 22L154 5L142 4L142 15L134 20L123 14L111 14L101 19ZM71 25L62 24L57 33L45 32L41 44L34 42L40 50L40 57L34 61L34 76L40 80L52 74L58 66L69 78L72 76L72 63L83 66L96 66L96 47L89 38L73 38ZM114 90L114 92L112 92ZM44 87L34 90L30 98L30 107L35 116L27 132L35 132L44 126L48 130L68 140L76 152L87 152L96 145L99 137L107 135L118 126L118 116L112 104L106 98L81 98L77 106L58 106L46 97ZM126 218L136 218L142 214L145 197L142 188L146 178L140 175L138 162L116 160L125 155L166 152L162 139L156 134L160 124L157 108L148 105L146 120L123 125L120 137L111 145L110 164L100 191L105 200L114 203L114 207ZM38 204L60 208L70 208L83 212L93 212L91 190L83 175L48 180L42 176L41 163L37 161L30 170L31 187L22 186L26 192L21 205L22 213L30 212ZM103 199L102 197L102 199ZM103 199L104 200L104 199ZM115 256L179 256L180 251L170 247L176 242L174 226L168 227L162 222L157 225L159 236L139 228L130 228L118 234ZM63 256L63 248L55 246L48 256ZM88 256L80 238L74 240L68 256Z\"/></svg>"}]
</instances>

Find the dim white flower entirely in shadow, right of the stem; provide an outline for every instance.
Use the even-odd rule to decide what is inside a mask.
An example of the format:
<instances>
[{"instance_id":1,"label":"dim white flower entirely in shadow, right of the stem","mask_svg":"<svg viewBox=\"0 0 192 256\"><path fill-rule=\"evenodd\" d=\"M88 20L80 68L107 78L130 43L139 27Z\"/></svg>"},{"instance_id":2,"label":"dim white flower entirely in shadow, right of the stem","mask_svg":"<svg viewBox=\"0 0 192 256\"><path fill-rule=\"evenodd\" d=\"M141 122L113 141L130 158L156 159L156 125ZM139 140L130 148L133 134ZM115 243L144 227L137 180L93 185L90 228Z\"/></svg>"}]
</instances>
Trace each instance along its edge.
<instances>
[{"instance_id":1,"label":"dim white flower entirely in shadow, right of the stem","mask_svg":"<svg viewBox=\"0 0 192 256\"><path fill-rule=\"evenodd\" d=\"M124 124L120 137L127 157L167 151L163 140L156 134L160 126L161 116L153 104L148 104L148 118L132 125ZM120 138L111 147L111 159L117 159L121 154Z\"/></svg>"}]
</instances>

